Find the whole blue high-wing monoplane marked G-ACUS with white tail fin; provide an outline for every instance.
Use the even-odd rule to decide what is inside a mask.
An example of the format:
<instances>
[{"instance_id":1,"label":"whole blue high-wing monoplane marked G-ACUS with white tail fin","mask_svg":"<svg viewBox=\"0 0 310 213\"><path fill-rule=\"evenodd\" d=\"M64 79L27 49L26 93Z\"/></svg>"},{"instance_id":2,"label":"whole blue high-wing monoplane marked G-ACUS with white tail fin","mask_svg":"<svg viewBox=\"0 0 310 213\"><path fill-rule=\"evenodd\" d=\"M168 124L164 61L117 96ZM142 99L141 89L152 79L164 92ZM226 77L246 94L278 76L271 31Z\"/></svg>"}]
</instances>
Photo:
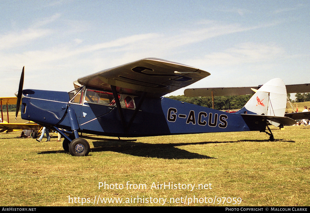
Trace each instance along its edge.
<instances>
[{"instance_id":1,"label":"whole blue high-wing monoplane marked G-ACUS with white tail fin","mask_svg":"<svg viewBox=\"0 0 310 213\"><path fill-rule=\"evenodd\" d=\"M284 117L286 87L273 79L260 87L236 113L227 113L162 96L188 86L210 73L184 64L147 58L78 79L72 92L24 89L18 92L21 117L64 138L64 150L83 156L90 151L81 133L143 137L210 132L260 131L268 125L292 125Z\"/></svg>"}]
</instances>

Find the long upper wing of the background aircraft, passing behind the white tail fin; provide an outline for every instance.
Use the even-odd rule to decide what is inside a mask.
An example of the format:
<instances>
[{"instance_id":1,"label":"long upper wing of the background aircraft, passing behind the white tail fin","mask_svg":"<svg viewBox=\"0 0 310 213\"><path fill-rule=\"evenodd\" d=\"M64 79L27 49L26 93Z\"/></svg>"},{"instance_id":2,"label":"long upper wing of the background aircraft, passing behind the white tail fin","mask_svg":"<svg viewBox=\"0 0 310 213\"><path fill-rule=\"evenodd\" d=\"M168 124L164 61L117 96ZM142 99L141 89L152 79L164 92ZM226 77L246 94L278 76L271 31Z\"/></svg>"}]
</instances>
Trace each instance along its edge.
<instances>
[{"instance_id":1,"label":"long upper wing of the background aircraft, passing behind the white tail fin","mask_svg":"<svg viewBox=\"0 0 310 213\"><path fill-rule=\"evenodd\" d=\"M253 89L259 89L262 85L253 87L214 87L214 88L197 88L185 89L184 95L188 97L209 97L212 96L232 96L254 94ZM286 85L287 93L308 93L310 92L310 84L294 84Z\"/></svg>"}]
</instances>

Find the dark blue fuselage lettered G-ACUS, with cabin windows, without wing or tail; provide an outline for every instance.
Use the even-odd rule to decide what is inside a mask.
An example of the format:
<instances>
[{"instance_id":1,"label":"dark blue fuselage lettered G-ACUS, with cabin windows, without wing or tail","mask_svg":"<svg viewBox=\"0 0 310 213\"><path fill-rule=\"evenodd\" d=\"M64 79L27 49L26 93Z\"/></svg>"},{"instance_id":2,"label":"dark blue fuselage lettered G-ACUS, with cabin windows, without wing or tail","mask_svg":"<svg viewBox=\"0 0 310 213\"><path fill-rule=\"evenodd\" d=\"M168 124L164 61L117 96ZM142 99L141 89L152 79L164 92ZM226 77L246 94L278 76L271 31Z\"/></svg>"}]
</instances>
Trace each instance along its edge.
<instances>
[{"instance_id":1,"label":"dark blue fuselage lettered G-ACUS, with cabin windows, without wing or tail","mask_svg":"<svg viewBox=\"0 0 310 213\"><path fill-rule=\"evenodd\" d=\"M250 131L240 113L163 97L141 100L118 94L118 98L123 118L111 92L85 87L73 93L26 89L21 117L50 128L116 137Z\"/></svg>"}]
</instances>

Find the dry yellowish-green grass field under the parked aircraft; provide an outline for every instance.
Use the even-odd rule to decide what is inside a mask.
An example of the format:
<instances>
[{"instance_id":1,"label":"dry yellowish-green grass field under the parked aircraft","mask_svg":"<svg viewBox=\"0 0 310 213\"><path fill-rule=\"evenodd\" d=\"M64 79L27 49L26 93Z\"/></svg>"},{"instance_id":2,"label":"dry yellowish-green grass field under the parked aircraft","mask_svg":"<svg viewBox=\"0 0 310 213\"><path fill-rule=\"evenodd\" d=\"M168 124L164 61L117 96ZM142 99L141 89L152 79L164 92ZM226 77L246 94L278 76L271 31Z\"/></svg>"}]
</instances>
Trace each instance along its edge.
<instances>
[{"instance_id":1,"label":"dry yellowish-green grass field under the parked aircraft","mask_svg":"<svg viewBox=\"0 0 310 213\"><path fill-rule=\"evenodd\" d=\"M0 206L309 206L310 127L272 131L88 140L86 157L0 134Z\"/></svg>"}]
</instances>

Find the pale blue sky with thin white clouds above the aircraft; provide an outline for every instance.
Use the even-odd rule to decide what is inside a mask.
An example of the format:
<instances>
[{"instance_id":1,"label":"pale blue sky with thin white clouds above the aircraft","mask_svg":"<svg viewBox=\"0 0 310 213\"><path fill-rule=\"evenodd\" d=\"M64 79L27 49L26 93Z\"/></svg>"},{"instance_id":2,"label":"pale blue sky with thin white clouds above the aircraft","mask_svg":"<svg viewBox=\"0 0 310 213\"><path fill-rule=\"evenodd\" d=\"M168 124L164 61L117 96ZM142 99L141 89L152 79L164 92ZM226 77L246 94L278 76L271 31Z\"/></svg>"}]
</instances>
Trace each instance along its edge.
<instances>
[{"instance_id":1,"label":"pale blue sky with thin white clouds above the aircraft","mask_svg":"<svg viewBox=\"0 0 310 213\"><path fill-rule=\"evenodd\" d=\"M153 57L211 75L188 88L310 83L310 2L0 1L1 97ZM183 89L184 90L184 89ZM183 90L174 95L183 94Z\"/></svg>"}]
</instances>

